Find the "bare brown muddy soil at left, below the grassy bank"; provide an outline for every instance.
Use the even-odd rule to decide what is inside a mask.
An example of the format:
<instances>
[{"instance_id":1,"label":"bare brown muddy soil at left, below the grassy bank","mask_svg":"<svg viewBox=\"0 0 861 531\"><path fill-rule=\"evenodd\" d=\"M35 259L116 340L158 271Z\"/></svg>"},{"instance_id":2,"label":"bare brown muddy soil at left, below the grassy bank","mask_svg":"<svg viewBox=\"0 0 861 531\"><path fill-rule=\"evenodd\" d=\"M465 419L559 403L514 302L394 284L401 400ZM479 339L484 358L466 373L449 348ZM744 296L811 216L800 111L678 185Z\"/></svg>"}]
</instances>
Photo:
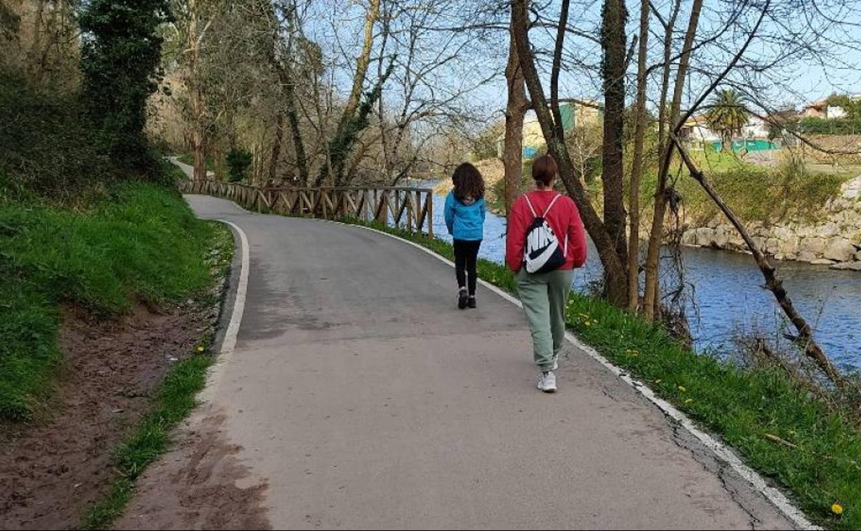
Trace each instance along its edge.
<instances>
[{"instance_id":1,"label":"bare brown muddy soil at left, below the grassy bank","mask_svg":"<svg viewBox=\"0 0 861 531\"><path fill-rule=\"evenodd\" d=\"M104 322L66 308L53 410L29 425L3 426L0 435L0 528L77 526L108 491L116 473L111 450L146 410L152 388L216 317L139 306Z\"/></svg>"}]
</instances>

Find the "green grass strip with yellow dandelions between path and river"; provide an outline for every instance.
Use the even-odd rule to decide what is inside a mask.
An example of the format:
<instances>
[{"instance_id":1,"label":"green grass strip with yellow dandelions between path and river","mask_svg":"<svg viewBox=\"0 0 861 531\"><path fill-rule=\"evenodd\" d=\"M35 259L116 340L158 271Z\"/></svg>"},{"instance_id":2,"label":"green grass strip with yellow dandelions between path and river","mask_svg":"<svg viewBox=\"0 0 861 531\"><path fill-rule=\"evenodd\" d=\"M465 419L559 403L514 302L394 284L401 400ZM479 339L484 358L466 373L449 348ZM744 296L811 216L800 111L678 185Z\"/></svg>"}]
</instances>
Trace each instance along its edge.
<instances>
[{"instance_id":1,"label":"green grass strip with yellow dandelions between path and river","mask_svg":"<svg viewBox=\"0 0 861 531\"><path fill-rule=\"evenodd\" d=\"M441 239L371 226L454 259L451 244ZM480 259L478 274L516 293L505 266ZM601 299L573 293L567 323L585 343L722 436L748 466L790 491L813 521L827 528L861 528L861 431L848 411L835 411L777 369L698 355L660 326Z\"/></svg>"}]
</instances>

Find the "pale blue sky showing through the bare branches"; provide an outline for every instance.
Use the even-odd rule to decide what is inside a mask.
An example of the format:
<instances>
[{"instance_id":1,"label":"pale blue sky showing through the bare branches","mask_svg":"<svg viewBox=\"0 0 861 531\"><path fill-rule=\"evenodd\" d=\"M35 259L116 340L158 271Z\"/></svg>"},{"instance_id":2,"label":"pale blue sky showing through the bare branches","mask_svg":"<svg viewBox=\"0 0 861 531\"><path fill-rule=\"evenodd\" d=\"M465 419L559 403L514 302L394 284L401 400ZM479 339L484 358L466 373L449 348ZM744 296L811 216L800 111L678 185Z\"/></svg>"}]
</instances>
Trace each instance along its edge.
<instances>
[{"instance_id":1,"label":"pale blue sky showing through the bare branches","mask_svg":"<svg viewBox=\"0 0 861 531\"><path fill-rule=\"evenodd\" d=\"M727 13L732 12L735 6L746 0L709 0L705 3L703 19L700 24L701 35L714 34L722 28L727 20ZM724 39L716 46L705 46L697 51L695 61L698 65L711 65L718 68L725 64L728 53L732 50L722 48L727 41L736 42L739 34L744 33L745 28L753 25L758 18L759 12L756 7L760 0L748 0L748 9L737 19L731 31L724 35ZM775 16L767 20L764 27L768 33L784 37L790 32L802 28L808 23L810 13L802 12L797 6L812 6L812 0L798 3L797 0L772 0L772 5L777 6ZM666 9L670 0L655 0L658 9ZM684 5L690 4L684 0ZM753 7L751 7L753 6ZM837 7L840 6L840 7ZM827 23L825 19L813 22L815 28L822 32L819 39L811 40L811 49L815 55L825 57L803 56L796 53L788 59L771 66L765 75L759 74L756 82L759 88L753 90L756 96L768 105L782 106L792 104L801 106L804 102L810 102L828 96L833 92L858 94L861 93L861 0L847 0L840 4L838 0L827 0L817 4L819 9L833 9L831 12L840 23ZM600 2L599 0L574 0L572 3L571 20L578 29L585 32L594 31L598 25ZM557 15L555 5L550 5L543 13L549 19ZM639 3L629 3L629 38L635 34ZM807 7L806 9L810 9ZM811 11L815 17L816 11ZM335 79L339 90L347 90L350 85L350 77L353 65L350 55L355 56L359 45L360 28L362 25L363 7L361 3L343 3L338 0L322 0L317 4L316 10L309 14L308 28L311 37L317 40L328 53L340 55L342 63L335 72ZM446 19L449 23L456 25L457 16L453 13ZM684 27L687 20L687 12L683 10L679 16L679 27ZM656 25L655 25L656 26ZM497 36L498 35L498 36ZM530 38L536 46L547 46L550 34L546 30L534 29ZM736 40L733 41L733 38ZM653 45L657 44L657 37L652 36ZM432 50L432 41L424 42L424 47ZM599 46L585 39L570 40L567 50L567 64L584 65L574 67L561 77L561 93L568 97L600 99L600 81L595 65L600 60ZM731 46L730 46L731 47ZM505 66L505 53L508 48L508 35L505 31L499 31L484 41L475 41L474 45L468 46L460 58L461 65L452 65L438 73L437 84L442 90L456 83L462 83L464 76L481 75L486 76L493 71L499 75L490 82L474 90L464 105L480 109L478 114L483 113L488 119L501 116L500 111L505 107L505 80L502 70ZM774 40L757 40L752 43L746 57L753 60L767 60L777 57L784 52L785 46ZM657 62L660 59L660 49L653 48L650 53L650 61ZM825 62L825 65L818 64ZM635 64L635 61L634 61ZM632 65L633 71L633 65ZM632 72L633 73L633 72ZM740 73L733 75L736 81L742 81ZM545 84L547 83L545 72ZM690 100L702 90L709 79L704 76L694 76L686 90L686 99ZM629 86L633 83L629 83ZM652 83L650 98L657 99L657 81ZM630 86L633 89L633 86ZM632 94L633 90L629 90ZM398 90L396 87L387 89L387 96L396 98ZM632 98L633 99L633 98Z\"/></svg>"}]
</instances>

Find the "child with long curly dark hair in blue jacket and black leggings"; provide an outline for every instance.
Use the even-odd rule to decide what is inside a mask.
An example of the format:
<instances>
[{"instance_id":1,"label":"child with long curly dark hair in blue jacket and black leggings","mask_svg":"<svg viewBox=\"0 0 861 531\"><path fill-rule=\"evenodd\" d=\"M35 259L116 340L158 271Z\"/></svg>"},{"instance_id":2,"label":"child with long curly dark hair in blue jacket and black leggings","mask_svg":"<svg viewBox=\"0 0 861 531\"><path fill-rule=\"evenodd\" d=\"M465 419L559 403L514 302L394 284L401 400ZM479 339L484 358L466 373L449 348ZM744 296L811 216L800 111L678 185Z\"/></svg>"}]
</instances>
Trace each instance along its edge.
<instances>
[{"instance_id":1,"label":"child with long curly dark hair in blue jacket and black leggings","mask_svg":"<svg viewBox=\"0 0 861 531\"><path fill-rule=\"evenodd\" d=\"M475 262L484 238L484 178L474 165L464 163L451 176L455 188L445 198L445 225L455 240L457 307L475 307Z\"/></svg>"}]
</instances>

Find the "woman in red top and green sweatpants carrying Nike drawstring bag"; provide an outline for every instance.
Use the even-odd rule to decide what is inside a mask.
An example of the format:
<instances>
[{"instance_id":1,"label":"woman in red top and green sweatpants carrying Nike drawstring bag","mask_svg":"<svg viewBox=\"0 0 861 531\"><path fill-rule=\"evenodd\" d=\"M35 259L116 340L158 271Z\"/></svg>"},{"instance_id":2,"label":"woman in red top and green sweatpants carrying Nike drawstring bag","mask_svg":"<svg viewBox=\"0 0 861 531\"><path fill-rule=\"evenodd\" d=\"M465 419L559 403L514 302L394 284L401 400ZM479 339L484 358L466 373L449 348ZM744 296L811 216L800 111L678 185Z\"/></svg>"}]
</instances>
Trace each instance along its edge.
<instances>
[{"instance_id":1,"label":"woman in red top and green sweatpants carrying Nike drawstring bag","mask_svg":"<svg viewBox=\"0 0 861 531\"><path fill-rule=\"evenodd\" d=\"M541 370L538 389L556 391L554 371L565 343L565 306L573 269L586 259L583 222L574 201L554 189L559 173L549 155L536 158L536 189L511 207L505 238L505 262L515 272L517 293L532 331L535 361Z\"/></svg>"}]
</instances>

